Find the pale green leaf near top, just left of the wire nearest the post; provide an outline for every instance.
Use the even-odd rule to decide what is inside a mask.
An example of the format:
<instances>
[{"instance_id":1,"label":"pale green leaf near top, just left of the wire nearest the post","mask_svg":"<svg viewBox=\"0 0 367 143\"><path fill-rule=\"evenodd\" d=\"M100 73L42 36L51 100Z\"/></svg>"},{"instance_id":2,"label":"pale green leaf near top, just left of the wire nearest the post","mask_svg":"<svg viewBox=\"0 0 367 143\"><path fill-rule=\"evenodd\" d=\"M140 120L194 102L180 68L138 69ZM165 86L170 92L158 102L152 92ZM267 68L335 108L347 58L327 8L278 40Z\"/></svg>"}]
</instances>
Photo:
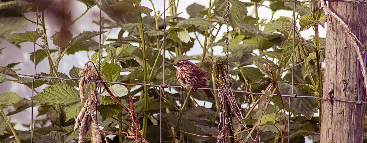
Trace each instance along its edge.
<instances>
[{"instance_id":1,"label":"pale green leaf near top, just left of the wire nearest the post","mask_svg":"<svg viewBox=\"0 0 367 143\"><path fill-rule=\"evenodd\" d=\"M268 25L264 27L264 31L262 31L262 33L269 34L275 31L284 32L284 31L291 31L291 30L293 30L293 25L290 22L274 21L274 22L269 22Z\"/></svg>"}]
</instances>

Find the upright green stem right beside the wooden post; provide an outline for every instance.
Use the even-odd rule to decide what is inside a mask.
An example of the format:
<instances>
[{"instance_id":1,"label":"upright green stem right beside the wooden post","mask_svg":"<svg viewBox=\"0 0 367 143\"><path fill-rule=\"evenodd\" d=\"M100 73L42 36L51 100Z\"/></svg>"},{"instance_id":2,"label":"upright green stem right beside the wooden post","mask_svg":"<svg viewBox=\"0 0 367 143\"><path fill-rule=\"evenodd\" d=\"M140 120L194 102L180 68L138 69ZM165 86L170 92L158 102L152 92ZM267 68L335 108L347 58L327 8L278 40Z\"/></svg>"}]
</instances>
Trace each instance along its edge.
<instances>
[{"instance_id":1,"label":"upright green stem right beside the wooden post","mask_svg":"<svg viewBox=\"0 0 367 143\"><path fill-rule=\"evenodd\" d=\"M319 98L322 98L322 77L321 77L321 57L320 57L320 43L319 43L319 26L314 26L315 30L315 45L316 45L316 64L317 64L317 87L319 91ZM322 113L322 100L319 100L319 122L321 123L321 113ZM321 126L319 126L321 131Z\"/></svg>"}]
</instances>

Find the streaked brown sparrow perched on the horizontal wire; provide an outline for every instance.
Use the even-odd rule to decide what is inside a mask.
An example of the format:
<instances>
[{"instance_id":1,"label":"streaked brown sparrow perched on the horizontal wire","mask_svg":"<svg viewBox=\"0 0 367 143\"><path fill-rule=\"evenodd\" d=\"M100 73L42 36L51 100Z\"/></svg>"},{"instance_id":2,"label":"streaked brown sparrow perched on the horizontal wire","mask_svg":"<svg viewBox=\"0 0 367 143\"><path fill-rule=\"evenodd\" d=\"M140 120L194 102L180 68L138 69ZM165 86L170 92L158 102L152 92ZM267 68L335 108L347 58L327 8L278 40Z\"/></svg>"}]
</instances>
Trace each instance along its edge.
<instances>
[{"instance_id":1,"label":"streaked brown sparrow perched on the horizontal wire","mask_svg":"<svg viewBox=\"0 0 367 143\"><path fill-rule=\"evenodd\" d=\"M179 60L174 66L177 66L176 77L178 83L182 85L181 90L186 88L196 92L197 88L208 87L209 76L194 63L188 60ZM210 90L203 89L203 92L207 98L214 98L214 94Z\"/></svg>"}]
</instances>

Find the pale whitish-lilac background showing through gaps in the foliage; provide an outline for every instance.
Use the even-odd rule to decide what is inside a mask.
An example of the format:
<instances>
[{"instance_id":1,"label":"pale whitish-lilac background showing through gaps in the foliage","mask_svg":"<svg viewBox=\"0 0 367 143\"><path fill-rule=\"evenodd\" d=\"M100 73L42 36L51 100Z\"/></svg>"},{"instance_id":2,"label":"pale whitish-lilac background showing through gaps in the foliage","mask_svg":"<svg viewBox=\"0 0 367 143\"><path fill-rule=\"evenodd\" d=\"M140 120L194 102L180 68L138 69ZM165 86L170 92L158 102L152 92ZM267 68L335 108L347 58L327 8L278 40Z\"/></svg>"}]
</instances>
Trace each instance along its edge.
<instances>
[{"instance_id":1,"label":"pale whitish-lilac background showing through gaps in the foliage","mask_svg":"<svg viewBox=\"0 0 367 143\"><path fill-rule=\"evenodd\" d=\"M241 0L241 1L250 2L248 0ZM72 3L70 4L70 6L72 7L69 8L69 10L72 13L71 19L75 19L76 17L81 15L86 10L86 6L78 1L65 0L65 3ZM157 11L158 10L160 10L161 12L163 11L163 1L153 0L153 3ZM178 10L177 13L182 12L182 14L180 14L179 17L189 18L189 15L186 12L186 7L188 7L189 5L193 3L197 3L205 7L208 7L209 0L180 0L179 7L177 9ZM148 0L142 0L141 4L142 6L146 6L148 8L153 9L151 3ZM166 4L168 4L168 0L166 0ZM269 6L269 2L266 1L264 5ZM249 7L247 11L248 11L248 15L254 15L253 6ZM271 17L271 13L272 13L271 10L265 7L260 7L258 10L258 16L260 17L260 19L266 18L268 19L268 21ZM83 18L79 19L74 24L74 26L72 26L73 30L71 32L73 33L73 36L76 36L83 31L98 31L99 26L92 23L92 20L97 20L99 18L98 14L99 14L99 8L97 6L93 7L90 11L88 11L88 13ZM153 12L152 12L152 15L154 15ZM107 17L107 15L105 16ZM170 16L169 12L166 13L166 16ZM273 19L277 19L280 16L292 17L292 11L285 11L285 10L277 11L275 12ZM36 14L28 13L26 14L26 17L29 19L35 19ZM46 15L46 17L51 17L51 16ZM46 18L46 28L48 29L47 31L48 38L50 38L50 36L54 34L55 31L60 30L59 27L51 27L53 25L52 23L54 22L56 21L52 21L51 19ZM26 27L17 30L15 33L32 31L34 29L35 29L35 25L32 23L29 23ZM119 30L120 28L113 29L109 37L116 38ZM220 32L217 37L223 36L223 33L225 31L224 29L222 30L223 32ZM320 30L320 37L325 37L326 30L324 30L321 26L319 26L319 30ZM312 29L302 31L300 33L305 38L309 38L311 35L314 34ZM190 34L191 34L190 35L191 37L195 37L192 33ZM203 41L204 37L199 36L199 39ZM95 37L95 40L98 41L98 36ZM55 46L52 44L52 42L50 42L49 44L50 44L51 49L55 49ZM2 43L0 44L0 48L3 48L3 47L7 47L7 48L3 49L2 50L3 54L0 55L0 65L1 66L6 66L9 63L22 62L21 64L15 66L14 68L14 69L21 69L17 71L17 73L34 74L33 62L29 60L30 59L29 53L33 52L32 43L30 42L22 43L21 49L19 49L15 47L14 45L12 45L11 43L8 43L6 40L3 40ZM36 50L37 49L41 49L41 48L36 47ZM197 41L195 41L194 48L192 48L192 50L188 52L188 55L198 55L198 54L201 54L201 51L202 50L200 48L200 45L197 43ZM214 47L214 51L215 51L215 54L217 55L224 55L224 53L222 53L222 47ZM93 53L90 52L90 56L91 54ZM68 74L69 70L73 66L83 67L84 63L86 63L87 61L88 61L88 58L87 58L87 54L85 51L78 52L75 55L65 56L61 61L61 65L59 66L59 72ZM47 60L43 60L41 63L39 63L39 65L37 65L37 73L40 73L40 72L49 73L49 66L48 66ZM43 88L45 88L45 85L39 88L36 88L36 91L42 91ZM25 85L14 83L12 81L6 81L5 83L0 84L0 94L3 94L5 92L15 92L21 97L30 99L29 97L31 96L32 90L26 87ZM30 124L30 113L31 113L30 109L27 109L23 111L22 113L18 113L18 114L10 116L12 122L18 122L18 124L15 125L16 129L25 129L25 127L22 126L22 123ZM36 117L36 115L37 115L37 108L34 109L34 117Z\"/></svg>"}]
</instances>

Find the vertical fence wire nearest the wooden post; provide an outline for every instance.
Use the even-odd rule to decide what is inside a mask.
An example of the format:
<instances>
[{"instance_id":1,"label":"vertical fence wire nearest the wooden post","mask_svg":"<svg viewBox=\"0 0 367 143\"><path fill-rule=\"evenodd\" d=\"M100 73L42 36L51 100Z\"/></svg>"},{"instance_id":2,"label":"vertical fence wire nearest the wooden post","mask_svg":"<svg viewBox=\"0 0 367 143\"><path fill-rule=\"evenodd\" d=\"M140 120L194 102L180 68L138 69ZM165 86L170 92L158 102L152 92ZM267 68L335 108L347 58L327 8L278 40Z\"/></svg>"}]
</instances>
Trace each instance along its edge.
<instances>
[{"instance_id":1,"label":"vertical fence wire nearest the wooden post","mask_svg":"<svg viewBox=\"0 0 367 143\"><path fill-rule=\"evenodd\" d=\"M293 7L293 49L292 49L292 95L294 94L294 41L295 41L295 34L296 34L296 0L294 0L294 7ZM291 119L291 97L288 99L288 132L287 132L287 139L289 143L289 123ZM285 135L283 135L285 136Z\"/></svg>"}]
</instances>

